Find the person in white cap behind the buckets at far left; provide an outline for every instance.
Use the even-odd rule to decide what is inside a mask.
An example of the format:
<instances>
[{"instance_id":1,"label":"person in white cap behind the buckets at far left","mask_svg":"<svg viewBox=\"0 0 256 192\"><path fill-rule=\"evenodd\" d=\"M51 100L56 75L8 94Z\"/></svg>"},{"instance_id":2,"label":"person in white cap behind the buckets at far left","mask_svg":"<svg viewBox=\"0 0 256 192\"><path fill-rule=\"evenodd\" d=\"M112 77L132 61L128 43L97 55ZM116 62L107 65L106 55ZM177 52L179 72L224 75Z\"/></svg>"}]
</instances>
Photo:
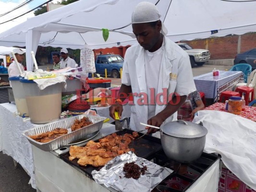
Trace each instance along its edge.
<instances>
[{"instance_id":1,"label":"person in white cap behind the buckets at far left","mask_svg":"<svg viewBox=\"0 0 256 192\"><path fill-rule=\"evenodd\" d=\"M22 72L24 72L24 66L22 64L22 61L24 60L24 51L20 48L14 48L13 53L18 61L18 65L20 66L20 69ZM9 77L15 77L15 76L19 76L20 72L19 69L15 63L15 61L13 60L12 63L10 64L10 66L8 67L8 74Z\"/></svg>"}]
</instances>

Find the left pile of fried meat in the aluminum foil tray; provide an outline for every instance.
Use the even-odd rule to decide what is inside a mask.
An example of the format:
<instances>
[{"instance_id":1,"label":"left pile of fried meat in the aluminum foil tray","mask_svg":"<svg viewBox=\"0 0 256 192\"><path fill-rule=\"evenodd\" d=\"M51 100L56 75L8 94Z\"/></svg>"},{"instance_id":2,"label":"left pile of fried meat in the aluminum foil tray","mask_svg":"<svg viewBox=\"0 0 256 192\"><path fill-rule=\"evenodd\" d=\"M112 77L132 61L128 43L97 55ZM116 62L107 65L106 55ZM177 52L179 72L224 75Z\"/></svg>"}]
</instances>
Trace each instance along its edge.
<instances>
[{"instance_id":1,"label":"left pile of fried meat in the aluminum foil tray","mask_svg":"<svg viewBox=\"0 0 256 192\"><path fill-rule=\"evenodd\" d=\"M43 132L38 135L28 135L28 136L37 142L47 143L67 133L68 133L67 129L56 128L51 132Z\"/></svg>"}]
</instances>

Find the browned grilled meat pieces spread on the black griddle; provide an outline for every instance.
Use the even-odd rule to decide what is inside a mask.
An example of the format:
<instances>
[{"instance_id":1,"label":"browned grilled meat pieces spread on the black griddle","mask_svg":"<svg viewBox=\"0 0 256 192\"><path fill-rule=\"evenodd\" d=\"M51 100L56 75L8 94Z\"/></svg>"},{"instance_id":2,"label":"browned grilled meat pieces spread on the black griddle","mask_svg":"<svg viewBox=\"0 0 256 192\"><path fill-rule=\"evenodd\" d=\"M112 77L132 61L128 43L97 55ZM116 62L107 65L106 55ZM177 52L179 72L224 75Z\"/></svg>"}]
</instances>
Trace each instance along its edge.
<instances>
[{"instance_id":1,"label":"browned grilled meat pieces spread on the black griddle","mask_svg":"<svg viewBox=\"0 0 256 192\"><path fill-rule=\"evenodd\" d=\"M135 133L133 133L133 135L135 137L139 136ZM91 140L84 147L71 145L69 160L72 161L78 158L77 163L81 166L104 166L115 156L122 155L129 151L134 152L134 148L129 148L129 144L135 139L133 135L125 133L122 136L112 133L111 135L99 139L99 142Z\"/></svg>"}]
</instances>

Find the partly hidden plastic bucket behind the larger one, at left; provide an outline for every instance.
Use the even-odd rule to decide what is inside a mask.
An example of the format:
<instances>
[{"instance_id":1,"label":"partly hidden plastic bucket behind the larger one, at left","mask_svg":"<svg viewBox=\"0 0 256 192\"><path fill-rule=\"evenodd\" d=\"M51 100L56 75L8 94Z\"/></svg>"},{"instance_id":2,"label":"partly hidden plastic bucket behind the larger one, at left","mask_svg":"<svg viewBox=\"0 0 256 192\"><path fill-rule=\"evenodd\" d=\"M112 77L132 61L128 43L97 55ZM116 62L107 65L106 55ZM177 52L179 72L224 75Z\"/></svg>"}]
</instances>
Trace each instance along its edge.
<instances>
[{"instance_id":1,"label":"partly hidden plastic bucket behind the larger one, at left","mask_svg":"<svg viewBox=\"0 0 256 192\"><path fill-rule=\"evenodd\" d=\"M25 91L22 83L20 82L20 77L9 77L9 81L12 84L12 92L20 116L29 116L27 103L25 99Z\"/></svg>"}]
</instances>

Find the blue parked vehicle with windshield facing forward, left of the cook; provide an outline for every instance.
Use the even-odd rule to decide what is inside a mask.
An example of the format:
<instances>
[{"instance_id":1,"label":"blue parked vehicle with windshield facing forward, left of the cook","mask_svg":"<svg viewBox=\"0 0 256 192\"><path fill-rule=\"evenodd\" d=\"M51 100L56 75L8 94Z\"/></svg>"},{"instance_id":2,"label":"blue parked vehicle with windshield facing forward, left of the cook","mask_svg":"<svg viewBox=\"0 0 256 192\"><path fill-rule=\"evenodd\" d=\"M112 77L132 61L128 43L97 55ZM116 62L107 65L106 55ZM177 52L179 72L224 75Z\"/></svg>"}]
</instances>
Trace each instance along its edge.
<instances>
[{"instance_id":1,"label":"blue parked vehicle with windshield facing forward, left of the cook","mask_svg":"<svg viewBox=\"0 0 256 192\"><path fill-rule=\"evenodd\" d=\"M120 78L120 69L123 65L123 58L120 55L98 55L95 60L96 73L105 75L107 74L113 78Z\"/></svg>"}]
</instances>

